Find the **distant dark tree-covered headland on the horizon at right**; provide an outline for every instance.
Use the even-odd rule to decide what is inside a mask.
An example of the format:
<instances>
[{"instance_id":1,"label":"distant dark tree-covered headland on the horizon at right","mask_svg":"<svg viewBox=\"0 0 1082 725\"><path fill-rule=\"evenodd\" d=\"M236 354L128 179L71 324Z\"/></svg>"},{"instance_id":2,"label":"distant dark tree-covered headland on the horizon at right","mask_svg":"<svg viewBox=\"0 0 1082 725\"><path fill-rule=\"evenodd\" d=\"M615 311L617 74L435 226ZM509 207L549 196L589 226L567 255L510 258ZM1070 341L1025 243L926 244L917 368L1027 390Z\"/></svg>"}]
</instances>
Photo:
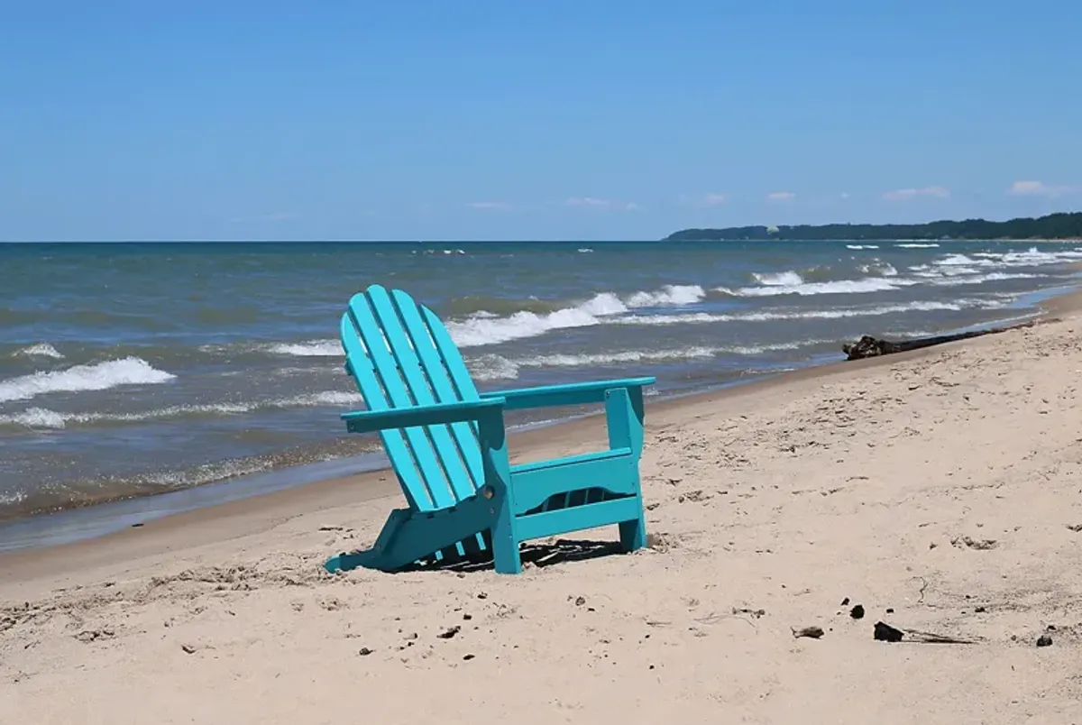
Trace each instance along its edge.
<instances>
[{"instance_id":1,"label":"distant dark tree-covered headland on the horizon at right","mask_svg":"<svg viewBox=\"0 0 1082 725\"><path fill-rule=\"evenodd\" d=\"M819 239L882 241L886 239L1082 239L1082 212L1021 216L1006 222L967 219L927 224L799 224L796 226L731 226L682 229L662 241L752 241Z\"/></svg>"}]
</instances>

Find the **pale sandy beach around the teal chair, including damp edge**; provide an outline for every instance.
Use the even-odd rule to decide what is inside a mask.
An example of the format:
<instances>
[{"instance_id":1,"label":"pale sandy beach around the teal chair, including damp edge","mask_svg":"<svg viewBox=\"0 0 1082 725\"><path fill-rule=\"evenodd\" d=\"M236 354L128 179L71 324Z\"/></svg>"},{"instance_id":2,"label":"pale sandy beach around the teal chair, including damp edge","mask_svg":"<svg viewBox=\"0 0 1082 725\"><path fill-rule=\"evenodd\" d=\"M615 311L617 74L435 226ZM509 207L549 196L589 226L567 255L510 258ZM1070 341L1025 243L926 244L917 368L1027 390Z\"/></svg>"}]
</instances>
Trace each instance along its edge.
<instances>
[{"instance_id":1,"label":"pale sandy beach around the teal chair, including damp edge","mask_svg":"<svg viewBox=\"0 0 1082 725\"><path fill-rule=\"evenodd\" d=\"M519 577L324 574L401 505L387 472L8 554L0 722L1082 722L1076 303L648 407L631 555L611 527Z\"/></svg>"}]
</instances>

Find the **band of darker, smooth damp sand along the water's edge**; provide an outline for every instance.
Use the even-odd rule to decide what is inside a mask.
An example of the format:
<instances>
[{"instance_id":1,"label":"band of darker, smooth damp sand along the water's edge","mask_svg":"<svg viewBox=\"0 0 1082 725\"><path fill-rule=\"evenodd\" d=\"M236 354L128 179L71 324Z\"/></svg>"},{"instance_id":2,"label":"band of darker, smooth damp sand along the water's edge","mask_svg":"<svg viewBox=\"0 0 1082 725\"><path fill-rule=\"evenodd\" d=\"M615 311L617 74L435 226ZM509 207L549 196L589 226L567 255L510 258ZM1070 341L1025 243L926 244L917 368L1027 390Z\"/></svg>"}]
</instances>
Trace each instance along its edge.
<instances>
[{"instance_id":1,"label":"band of darker, smooth damp sand along the water's edge","mask_svg":"<svg viewBox=\"0 0 1082 725\"><path fill-rule=\"evenodd\" d=\"M1042 308L1043 312L1037 315L1039 326L1058 322L1063 317L1077 315L1082 312L1082 290L1045 300ZM674 417L702 419L718 408L753 410L756 398L807 394L817 386L837 381L859 380L874 374L883 367L921 360L945 351L980 344L990 338L1019 332L1021 330L1011 330L995 335L887 356L828 362L720 390L657 400L647 406L647 434L657 432L659 419ZM575 454L606 445L604 419L598 413L513 432L509 439L512 463ZM278 473L290 471L293 469L285 469ZM195 491L199 488L206 487L188 490ZM58 572L74 574L93 566L116 565L130 557L133 550L138 551L140 557L147 557L166 554L192 541L209 545L229 539L251 537L266 532L298 516L318 514L362 502L386 500L384 509L390 512L391 509L401 504L401 501L396 499L401 499L401 490L393 471L386 467L321 478L286 486L270 492L259 492L222 503L170 513L153 519L132 520L119 529L114 528L62 543L0 551L0 571L4 572L0 580L29 581L38 577L56 576ZM103 504L100 507L108 505L115 504ZM77 512L78 510L67 513ZM366 543L358 541L357 545L364 546Z\"/></svg>"}]
</instances>

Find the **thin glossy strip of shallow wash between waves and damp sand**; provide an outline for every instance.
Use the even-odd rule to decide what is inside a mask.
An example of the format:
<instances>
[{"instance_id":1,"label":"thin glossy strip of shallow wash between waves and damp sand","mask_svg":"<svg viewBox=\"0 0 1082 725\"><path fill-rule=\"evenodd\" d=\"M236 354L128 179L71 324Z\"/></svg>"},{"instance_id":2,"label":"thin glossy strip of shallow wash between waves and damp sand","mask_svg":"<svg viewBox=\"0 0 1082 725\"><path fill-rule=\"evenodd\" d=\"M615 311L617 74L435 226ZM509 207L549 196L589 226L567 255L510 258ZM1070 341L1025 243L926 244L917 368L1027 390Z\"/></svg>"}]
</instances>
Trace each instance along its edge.
<instances>
[{"instance_id":1,"label":"thin glossy strip of shallow wash between waves and damp sand","mask_svg":"<svg viewBox=\"0 0 1082 725\"><path fill-rule=\"evenodd\" d=\"M1078 266L1082 268L1082 262L1078 263ZM1033 307L1033 311L1003 320L991 320L958 330L949 330L944 334L987 329L1004 324L1017 325L1027 319L1037 319L1039 322L1043 322L1057 315L1072 314L1076 309L1082 309L1082 289L1059 287L1030 292L1019 296L1004 311L1028 307ZM659 397L654 401L648 400L647 410L667 411L679 408L685 404L705 404L740 395L752 395L756 392L769 391L776 386L799 381L830 378L845 374L857 368L882 365L884 359L890 361L908 359L908 356L919 356L926 351L935 351L937 347L941 346L894 354L886 358L810 362L795 370L765 374L750 381L738 380L707 390ZM593 409L544 421L540 424L526 424L520 430L512 430L509 435L512 462L518 462L523 453L543 446L550 440L572 444L580 439L579 431L589 427L591 423L601 423L599 430L604 432L604 423L598 421L601 414L602 411ZM647 425L649 425L649 413ZM560 431L560 433L553 433L554 431ZM602 438L595 436L592 441L598 444ZM515 456L516 450L520 451L518 457ZM290 493L294 491L296 498L304 499L306 491L318 490L316 498L322 500L324 493L319 487L335 488L342 485L355 485L365 489L361 500L394 496L400 491L396 484L385 483L390 479L391 474L386 456L382 448L378 448L373 452L360 456L272 469L174 491L133 496L12 518L0 523L0 566L5 564L5 559L19 555L75 546L88 541L121 535L128 529L158 528L162 522L174 517L182 516L185 517L185 520L198 518L200 512L223 506L228 506L227 511L229 512L241 513L246 507L275 509L278 505L288 505L293 502L294 497ZM379 489L380 492L369 496L369 489ZM328 501L330 500L328 499ZM329 503L329 505L335 504ZM216 516L210 516L210 518L216 518Z\"/></svg>"}]
</instances>

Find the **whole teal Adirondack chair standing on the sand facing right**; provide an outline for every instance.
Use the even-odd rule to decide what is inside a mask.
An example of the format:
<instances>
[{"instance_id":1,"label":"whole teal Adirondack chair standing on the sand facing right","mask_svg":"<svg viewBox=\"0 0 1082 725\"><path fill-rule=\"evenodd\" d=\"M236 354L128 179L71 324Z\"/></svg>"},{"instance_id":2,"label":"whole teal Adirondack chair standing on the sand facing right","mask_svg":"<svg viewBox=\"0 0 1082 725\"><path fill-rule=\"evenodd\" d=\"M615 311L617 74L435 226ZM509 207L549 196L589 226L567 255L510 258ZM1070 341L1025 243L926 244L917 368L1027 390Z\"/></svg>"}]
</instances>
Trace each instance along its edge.
<instances>
[{"instance_id":1,"label":"whole teal Adirondack chair standing on the sand facing right","mask_svg":"<svg viewBox=\"0 0 1082 725\"><path fill-rule=\"evenodd\" d=\"M368 410L342 416L354 433L379 431L409 502L391 513L368 551L328 571L384 571L490 551L518 574L518 544L617 524L624 551L646 542L638 459L643 386L654 378L478 394L439 318L400 290L355 294L342 316L346 371ZM609 450L511 465L503 413L604 403Z\"/></svg>"}]
</instances>

